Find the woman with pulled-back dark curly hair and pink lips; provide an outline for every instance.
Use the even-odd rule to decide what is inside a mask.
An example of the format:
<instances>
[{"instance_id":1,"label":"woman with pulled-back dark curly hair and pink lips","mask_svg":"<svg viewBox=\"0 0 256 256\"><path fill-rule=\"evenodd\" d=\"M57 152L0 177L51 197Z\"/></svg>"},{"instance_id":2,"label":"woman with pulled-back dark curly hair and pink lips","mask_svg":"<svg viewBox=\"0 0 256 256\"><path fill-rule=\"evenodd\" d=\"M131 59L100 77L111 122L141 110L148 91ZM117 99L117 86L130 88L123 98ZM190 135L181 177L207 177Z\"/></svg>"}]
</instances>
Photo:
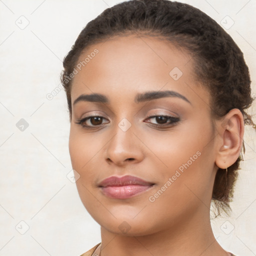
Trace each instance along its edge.
<instances>
[{"instance_id":1,"label":"woman with pulled-back dark curly hair and pink lips","mask_svg":"<svg viewBox=\"0 0 256 256\"><path fill-rule=\"evenodd\" d=\"M76 186L101 226L82 255L233 255L209 218L211 201L230 208L253 125L231 37L188 4L131 0L90 21L63 66Z\"/></svg>"}]
</instances>

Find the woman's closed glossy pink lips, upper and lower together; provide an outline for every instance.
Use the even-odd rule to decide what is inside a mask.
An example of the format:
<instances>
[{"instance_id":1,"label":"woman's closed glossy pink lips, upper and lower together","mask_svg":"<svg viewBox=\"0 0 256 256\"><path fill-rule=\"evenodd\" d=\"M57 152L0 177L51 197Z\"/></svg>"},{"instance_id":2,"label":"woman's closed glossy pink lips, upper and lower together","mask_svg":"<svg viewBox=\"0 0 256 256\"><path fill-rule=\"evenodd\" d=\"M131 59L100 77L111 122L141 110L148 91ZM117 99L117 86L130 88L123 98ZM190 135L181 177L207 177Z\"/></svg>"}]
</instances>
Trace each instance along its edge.
<instances>
[{"instance_id":1,"label":"woman's closed glossy pink lips, upper and lower together","mask_svg":"<svg viewBox=\"0 0 256 256\"><path fill-rule=\"evenodd\" d=\"M151 188L153 185L154 183L141 178L125 175L122 177L108 177L102 180L98 186L103 194L108 197L125 199L140 194Z\"/></svg>"}]
</instances>

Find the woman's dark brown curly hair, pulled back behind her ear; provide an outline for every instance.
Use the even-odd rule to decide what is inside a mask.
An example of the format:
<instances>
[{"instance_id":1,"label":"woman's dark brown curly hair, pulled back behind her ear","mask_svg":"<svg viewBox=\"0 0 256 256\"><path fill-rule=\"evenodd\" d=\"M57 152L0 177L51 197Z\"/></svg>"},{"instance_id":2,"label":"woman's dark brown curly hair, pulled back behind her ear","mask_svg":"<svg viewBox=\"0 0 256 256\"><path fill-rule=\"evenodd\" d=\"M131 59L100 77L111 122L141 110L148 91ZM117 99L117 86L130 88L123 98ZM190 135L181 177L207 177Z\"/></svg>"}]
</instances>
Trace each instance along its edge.
<instances>
[{"instance_id":1,"label":"woman's dark brown curly hair, pulled back behind her ear","mask_svg":"<svg viewBox=\"0 0 256 256\"><path fill-rule=\"evenodd\" d=\"M254 125L245 110L252 104L250 75L243 53L225 30L211 17L189 4L169 0L129 0L105 9L87 23L63 60L61 83L65 89L71 121L70 77L82 51L113 36L137 34L163 38L186 49L194 60L196 79L211 95L214 118L238 108L244 124ZM255 126L255 125L254 125ZM242 143L243 153L245 152ZM230 210L233 188L242 154L225 170L218 168L212 202L219 215Z\"/></svg>"}]
</instances>

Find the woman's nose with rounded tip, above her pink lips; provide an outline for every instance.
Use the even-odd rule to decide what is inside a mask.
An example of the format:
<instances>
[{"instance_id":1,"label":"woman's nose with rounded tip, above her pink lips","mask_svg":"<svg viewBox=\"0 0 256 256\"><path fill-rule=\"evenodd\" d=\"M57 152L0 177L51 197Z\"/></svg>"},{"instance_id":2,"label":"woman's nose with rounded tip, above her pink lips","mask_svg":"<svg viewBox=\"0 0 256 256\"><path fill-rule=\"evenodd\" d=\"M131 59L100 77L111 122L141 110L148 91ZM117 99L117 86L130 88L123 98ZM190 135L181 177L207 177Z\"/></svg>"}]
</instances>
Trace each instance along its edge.
<instances>
[{"instance_id":1,"label":"woman's nose with rounded tip, above her pink lips","mask_svg":"<svg viewBox=\"0 0 256 256\"><path fill-rule=\"evenodd\" d=\"M126 131L117 126L113 134L105 150L105 159L108 164L122 166L142 161L143 143L138 139L139 136L133 133L132 125Z\"/></svg>"}]
</instances>

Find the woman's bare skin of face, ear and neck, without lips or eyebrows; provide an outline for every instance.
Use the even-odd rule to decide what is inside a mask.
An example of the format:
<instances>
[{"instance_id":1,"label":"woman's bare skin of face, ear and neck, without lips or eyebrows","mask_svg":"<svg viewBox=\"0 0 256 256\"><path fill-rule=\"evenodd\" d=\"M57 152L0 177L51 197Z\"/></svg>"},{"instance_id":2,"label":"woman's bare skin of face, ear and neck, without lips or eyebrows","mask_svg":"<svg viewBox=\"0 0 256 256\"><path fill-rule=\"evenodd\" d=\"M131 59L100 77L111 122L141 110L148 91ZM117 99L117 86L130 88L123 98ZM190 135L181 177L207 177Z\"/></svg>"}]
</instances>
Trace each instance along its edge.
<instances>
[{"instance_id":1,"label":"woman's bare skin of face, ear and neck, without lips or eyebrows","mask_svg":"<svg viewBox=\"0 0 256 256\"><path fill-rule=\"evenodd\" d=\"M99 52L72 80L69 153L79 173L81 201L101 226L100 255L228 255L212 233L209 207L218 167L230 166L239 156L241 112L232 109L213 120L210 95L193 75L193 60L170 42L116 36L86 48L78 62L95 48ZM183 73L178 80L169 75L173 67ZM174 96L134 102L137 93L151 90L172 90L190 103ZM104 94L109 103L73 104L90 93ZM93 126L91 119L86 121L91 129L76 123L93 113L103 117L100 125ZM156 126L157 119L148 116L159 114L179 121L168 124L167 119L165 128ZM131 124L126 131L118 126L123 118ZM197 159L149 201L196 152ZM98 187L109 176L126 174L154 185L127 199L110 198Z\"/></svg>"}]
</instances>

